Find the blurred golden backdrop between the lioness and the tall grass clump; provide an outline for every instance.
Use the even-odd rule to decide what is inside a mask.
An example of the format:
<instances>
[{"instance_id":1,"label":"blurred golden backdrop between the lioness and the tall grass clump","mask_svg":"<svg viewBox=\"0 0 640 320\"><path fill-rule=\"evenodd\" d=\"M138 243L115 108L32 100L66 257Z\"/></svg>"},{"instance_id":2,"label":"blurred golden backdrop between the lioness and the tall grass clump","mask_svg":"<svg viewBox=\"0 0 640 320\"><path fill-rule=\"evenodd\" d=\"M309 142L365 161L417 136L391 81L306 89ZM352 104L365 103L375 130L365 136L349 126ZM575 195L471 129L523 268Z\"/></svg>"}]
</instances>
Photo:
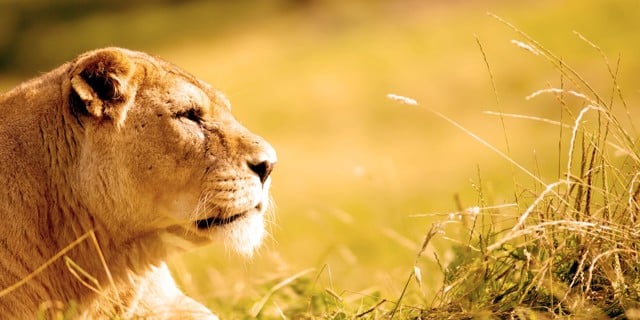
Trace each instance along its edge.
<instances>
[{"instance_id":1,"label":"blurred golden backdrop between the lioness and the tall grass clump","mask_svg":"<svg viewBox=\"0 0 640 320\"><path fill-rule=\"evenodd\" d=\"M468 207L511 204L536 187L425 108L547 183L562 176L558 141L566 129L485 111L571 124L580 102L567 98L561 113L552 95L525 97L561 83L584 88L563 83L552 65L514 45L523 37L487 12L527 32L609 98L604 54L614 71L619 65L617 82L636 118L636 0L0 0L0 91L104 46L158 55L211 83L278 151L276 214L255 258L202 248L172 260L179 282L225 319L249 317L265 297L265 317L295 318L314 307L314 290L360 308L366 299L400 295L433 222ZM409 288L416 305L429 305L442 266L455 259L452 244L463 241L444 231L418 261L423 285Z\"/></svg>"}]
</instances>

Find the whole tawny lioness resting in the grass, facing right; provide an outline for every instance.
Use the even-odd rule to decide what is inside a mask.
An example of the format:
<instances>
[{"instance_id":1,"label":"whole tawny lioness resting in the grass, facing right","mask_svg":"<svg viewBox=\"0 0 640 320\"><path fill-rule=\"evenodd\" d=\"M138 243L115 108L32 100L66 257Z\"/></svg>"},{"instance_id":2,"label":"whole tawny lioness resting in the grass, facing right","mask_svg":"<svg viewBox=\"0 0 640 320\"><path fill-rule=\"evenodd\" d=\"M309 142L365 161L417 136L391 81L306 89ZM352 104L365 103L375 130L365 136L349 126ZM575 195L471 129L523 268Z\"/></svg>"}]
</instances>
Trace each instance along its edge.
<instances>
[{"instance_id":1,"label":"whole tawny lioness resting in the grass, facing right","mask_svg":"<svg viewBox=\"0 0 640 320\"><path fill-rule=\"evenodd\" d=\"M0 96L0 318L216 319L172 252L263 234L273 148L145 53L80 55ZM3 290L4 289L4 290Z\"/></svg>"}]
</instances>

